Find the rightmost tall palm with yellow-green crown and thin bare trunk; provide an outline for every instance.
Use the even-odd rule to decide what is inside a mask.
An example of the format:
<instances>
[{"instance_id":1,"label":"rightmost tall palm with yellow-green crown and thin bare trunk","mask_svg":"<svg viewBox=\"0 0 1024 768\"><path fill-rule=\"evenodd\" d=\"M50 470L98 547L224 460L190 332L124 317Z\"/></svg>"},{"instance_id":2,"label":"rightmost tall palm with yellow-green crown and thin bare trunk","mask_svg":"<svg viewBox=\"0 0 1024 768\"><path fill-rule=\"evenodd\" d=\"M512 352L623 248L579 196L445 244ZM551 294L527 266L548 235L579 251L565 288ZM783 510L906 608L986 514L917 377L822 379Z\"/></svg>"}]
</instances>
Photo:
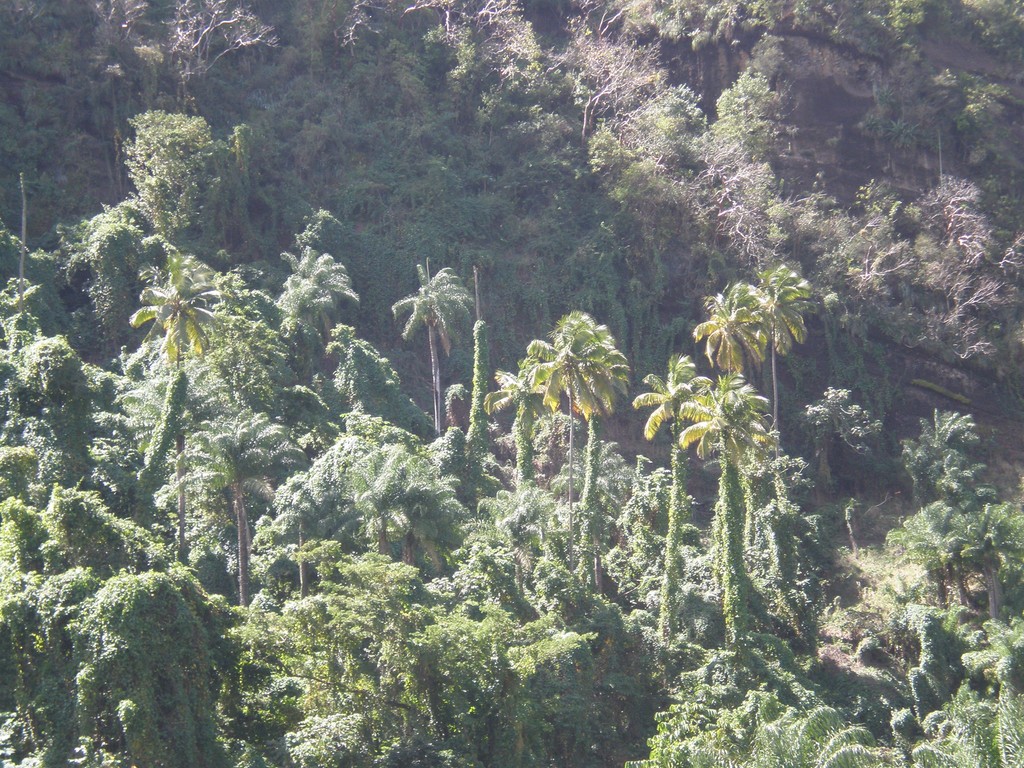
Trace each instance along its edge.
<instances>
[{"instance_id":1,"label":"rightmost tall palm with yellow-green crown and thin bare trunk","mask_svg":"<svg viewBox=\"0 0 1024 768\"><path fill-rule=\"evenodd\" d=\"M776 357L807 338L804 313L811 309L811 284L785 264L759 275L758 309L771 350L772 426L778 431L778 370Z\"/></svg>"}]
</instances>

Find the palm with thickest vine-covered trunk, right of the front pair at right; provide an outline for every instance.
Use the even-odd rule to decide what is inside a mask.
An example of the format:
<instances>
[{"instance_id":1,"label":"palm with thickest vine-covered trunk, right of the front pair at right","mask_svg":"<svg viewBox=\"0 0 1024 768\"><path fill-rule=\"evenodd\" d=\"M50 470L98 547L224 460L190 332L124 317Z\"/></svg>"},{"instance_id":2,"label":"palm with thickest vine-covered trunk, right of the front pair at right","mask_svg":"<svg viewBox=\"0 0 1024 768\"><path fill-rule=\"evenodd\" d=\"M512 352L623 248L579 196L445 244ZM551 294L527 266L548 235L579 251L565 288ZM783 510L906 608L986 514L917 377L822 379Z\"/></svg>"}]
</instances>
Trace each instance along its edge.
<instances>
[{"instance_id":1,"label":"palm with thickest vine-covered trunk, right of the front pair at right","mask_svg":"<svg viewBox=\"0 0 1024 768\"><path fill-rule=\"evenodd\" d=\"M695 444L701 459L717 453L722 465L715 509L715 575L723 594L730 641L746 629L746 572L743 566L743 492L740 462L773 443L765 425L768 400L739 374L726 374L684 403L681 415L691 422L680 444Z\"/></svg>"}]
</instances>

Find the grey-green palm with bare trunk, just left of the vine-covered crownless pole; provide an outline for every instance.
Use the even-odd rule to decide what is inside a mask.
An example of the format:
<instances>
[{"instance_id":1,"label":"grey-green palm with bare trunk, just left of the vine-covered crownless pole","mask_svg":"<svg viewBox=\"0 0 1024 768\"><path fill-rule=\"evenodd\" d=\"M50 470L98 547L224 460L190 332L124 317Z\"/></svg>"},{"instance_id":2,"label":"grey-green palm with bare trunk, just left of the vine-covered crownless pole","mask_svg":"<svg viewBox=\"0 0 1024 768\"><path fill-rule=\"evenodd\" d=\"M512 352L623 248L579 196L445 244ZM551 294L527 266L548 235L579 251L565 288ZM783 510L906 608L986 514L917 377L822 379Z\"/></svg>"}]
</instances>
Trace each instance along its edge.
<instances>
[{"instance_id":1,"label":"grey-green palm with bare trunk, just left of the vine-covered crownless pole","mask_svg":"<svg viewBox=\"0 0 1024 768\"><path fill-rule=\"evenodd\" d=\"M462 281L449 267L441 269L433 278L428 267L416 266L420 278L420 290L391 306L395 318L409 313L409 319L401 331L401 338L408 340L420 326L427 327L427 341L430 345L430 372L434 390L434 429L441 433L441 374L437 359L437 342L444 354L452 351L452 337L460 322L469 322L469 308L473 299Z\"/></svg>"}]
</instances>

